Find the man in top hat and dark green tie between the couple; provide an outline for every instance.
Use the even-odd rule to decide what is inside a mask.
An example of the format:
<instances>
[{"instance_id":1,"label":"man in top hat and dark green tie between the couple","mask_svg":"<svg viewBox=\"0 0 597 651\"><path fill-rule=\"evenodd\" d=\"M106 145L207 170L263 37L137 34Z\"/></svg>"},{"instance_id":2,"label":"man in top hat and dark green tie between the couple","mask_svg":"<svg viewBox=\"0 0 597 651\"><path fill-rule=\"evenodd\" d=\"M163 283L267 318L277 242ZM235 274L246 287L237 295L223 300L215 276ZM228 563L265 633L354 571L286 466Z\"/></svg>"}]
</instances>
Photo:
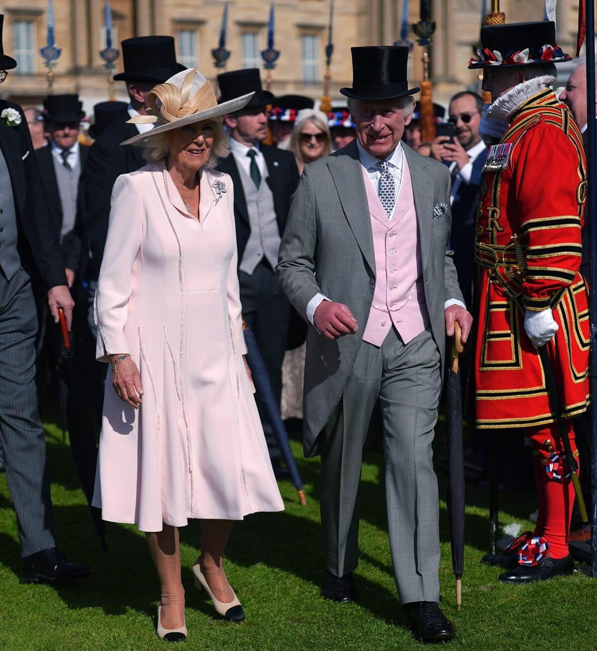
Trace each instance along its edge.
<instances>
[{"instance_id":1,"label":"man in top hat and dark green tie between the couple","mask_svg":"<svg viewBox=\"0 0 597 651\"><path fill-rule=\"evenodd\" d=\"M234 183L234 218L238 246L238 281L243 317L255 333L271 388L278 404L282 393L282 361L286 351L290 304L273 273L280 238L286 226L298 169L290 152L264 145L268 135L266 106L273 95L262 90L259 70L234 70L218 75L221 102L255 92L241 111L226 115L232 154L218 169ZM257 400L274 472L281 476L280 450L270 422Z\"/></svg>"}]
</instances>

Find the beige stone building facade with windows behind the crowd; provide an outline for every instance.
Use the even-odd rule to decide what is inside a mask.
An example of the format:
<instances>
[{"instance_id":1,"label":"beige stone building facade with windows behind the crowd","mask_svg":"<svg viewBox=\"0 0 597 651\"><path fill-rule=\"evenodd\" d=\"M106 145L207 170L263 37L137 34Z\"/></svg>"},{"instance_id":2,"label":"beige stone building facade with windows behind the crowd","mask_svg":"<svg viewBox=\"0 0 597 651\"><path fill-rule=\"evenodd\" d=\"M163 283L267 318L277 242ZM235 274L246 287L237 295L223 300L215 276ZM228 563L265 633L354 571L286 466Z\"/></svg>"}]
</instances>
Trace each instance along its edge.
<instances>
[{"instance_id":1,"label":"beige stone building facade with windows behind the crowd","mask_svg":"<svg viewBox=\"0 0 597 651\"><path fill-rule=\"evenodd\" d=\"M130 36L169 34L176 39L178 59L199 66L212 79L217 74L211 55L217 47L225 0L111 0L114 32L119 42ZM325 74L325 47L329 0L275 0L275 47L281 51L272 72L271 90L320 98ZM488 1L489 4L489 1ZM432 0L437 24L431 48L434 99L446 103L452 92L478 84L467 70L473 45L479 39L481 0ZM350 85L350 46L391 44L399 38L402 0L335 0L334 53L331 94L341 104L338 90ZM541 20L543 0L502 0L510 22ZM54 0L55 42L62 48L55 68L54 92L78 92L89 112L107 99L107 76L99 52L104 48L103 0ZM260 51L266 48L269 0L229 0L227 70L262 68ZM39 104L46 94L46 68L39 50L46 43L48 0L0 2L5 14L5 52L19 62L0 86L0 96L21 104ZM559 3L558 39L570 51L576 42L577 0ZM410 22L416 21L419 3L410 2ZM410 33L409 38L415 40ZM118 59L118 66L122 59ZM411 54L413 83L423 74L421 48ZM561 68L567 76L569 67ZM265 73L262 73L262 78ZM561 80L559 79L559 83ZM117 98L126 99L123 83L116 83Z\"/></svg>"}]
</instances>

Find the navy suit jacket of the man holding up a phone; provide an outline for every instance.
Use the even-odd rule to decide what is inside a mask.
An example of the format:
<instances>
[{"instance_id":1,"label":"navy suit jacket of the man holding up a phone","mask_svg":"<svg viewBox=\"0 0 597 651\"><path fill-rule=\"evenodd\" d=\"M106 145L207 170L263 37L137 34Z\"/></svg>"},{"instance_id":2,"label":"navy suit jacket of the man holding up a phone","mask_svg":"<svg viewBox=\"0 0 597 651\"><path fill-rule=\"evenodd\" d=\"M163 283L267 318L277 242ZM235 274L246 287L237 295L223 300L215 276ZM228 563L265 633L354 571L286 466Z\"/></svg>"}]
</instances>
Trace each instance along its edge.
<instances>
[{"instance_id":1,"label":"navy suit jacket of the man holding up a phone","mask_svg":"<svg viewBox=\"0 0 597 651\"><path fill-rule=\"evenodd\" d=\"M488 150L484 149L475 158L470 182L460 183L454 201L452 201L450 247L454 251L454 266L458 273L458 284L460 284L469 310L472 307L472 284L475 273L475 217L487 152Z\"/></svg>"}]
</instances>

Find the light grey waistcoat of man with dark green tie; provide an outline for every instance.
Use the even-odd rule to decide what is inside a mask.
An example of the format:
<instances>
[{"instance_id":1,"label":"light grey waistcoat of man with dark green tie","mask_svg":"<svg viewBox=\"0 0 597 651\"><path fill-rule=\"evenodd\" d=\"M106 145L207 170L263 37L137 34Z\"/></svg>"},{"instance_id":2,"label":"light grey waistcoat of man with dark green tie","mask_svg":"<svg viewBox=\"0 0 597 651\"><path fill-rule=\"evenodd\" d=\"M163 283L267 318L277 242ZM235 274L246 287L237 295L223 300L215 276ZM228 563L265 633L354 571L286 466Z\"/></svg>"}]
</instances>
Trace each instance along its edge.
<instances>
[{"instance_id":1,"label":"light grey waistcoat of man with dark green tie","mask_svg":"<svg viewBox=\"0 0 597 651\"><path fill-rule=\"evenodd\" d=\"M275 269L280 248L280 234L275 219L273 194L266 182L267 172L261 179L259 189L255 187L255 183L241 165L238 165L238 173L245 192L251 227L251 235L239 269L251 275L264 256L271 268Z\"/></svg>"}]
</instances>

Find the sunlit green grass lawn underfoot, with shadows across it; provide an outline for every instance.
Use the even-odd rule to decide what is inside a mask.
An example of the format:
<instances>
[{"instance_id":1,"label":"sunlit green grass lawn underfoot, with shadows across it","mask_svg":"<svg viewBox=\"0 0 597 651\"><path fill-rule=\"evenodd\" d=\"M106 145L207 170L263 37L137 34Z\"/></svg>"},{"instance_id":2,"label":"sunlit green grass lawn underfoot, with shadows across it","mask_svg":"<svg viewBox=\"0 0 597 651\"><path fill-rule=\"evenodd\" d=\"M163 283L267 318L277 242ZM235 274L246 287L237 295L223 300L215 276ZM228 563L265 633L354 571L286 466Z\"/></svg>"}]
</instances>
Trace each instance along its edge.
<instances>
[{"instance_id":1,"label":"sunlit green grass lawn underfoot, with shadows across it","mask_svg":"<svg viewBox=\"0 0 597 651\"><path fill-rule=\"evenodd\" d=\"M6 476L0 475L0 649L10 651L163 649L155 634L159 587L145 543L135 527L109 524L109 553L102 551L70 456L48 428L48 460L55 532L69 559L93 566L88 579L63 587L20 585L16 518ZM322 600L323 577L317 459L302 458L307 507L281 482L286 510L257 514L235 525L227 573L247 620L214 618L210 602L193 587L191 565L199 552L199 523L181 529L186 587L186 647L197 650L408 650L423 644L404 628L387 540L383 460L367 454L361 484L361 562L358 603ZM440 494L445 479L439 477ZM488 490L467 486L467 546L463 608L456 612L445 502L441 502L441 605L454 622L452 648L584 651L597 648L597 583L576 572L531 586L506 586L479 559L486 551ZM501 495L501 523L522 522L535 509L531 492Z\"/></svg>"}]
</instances>

